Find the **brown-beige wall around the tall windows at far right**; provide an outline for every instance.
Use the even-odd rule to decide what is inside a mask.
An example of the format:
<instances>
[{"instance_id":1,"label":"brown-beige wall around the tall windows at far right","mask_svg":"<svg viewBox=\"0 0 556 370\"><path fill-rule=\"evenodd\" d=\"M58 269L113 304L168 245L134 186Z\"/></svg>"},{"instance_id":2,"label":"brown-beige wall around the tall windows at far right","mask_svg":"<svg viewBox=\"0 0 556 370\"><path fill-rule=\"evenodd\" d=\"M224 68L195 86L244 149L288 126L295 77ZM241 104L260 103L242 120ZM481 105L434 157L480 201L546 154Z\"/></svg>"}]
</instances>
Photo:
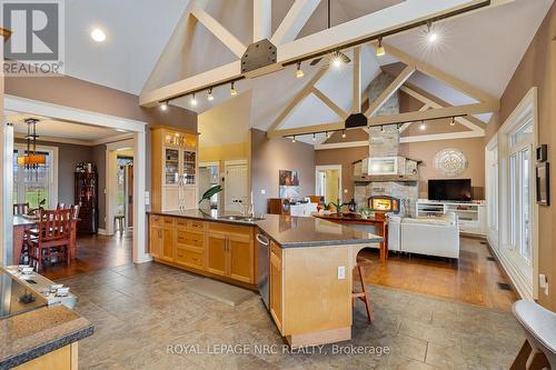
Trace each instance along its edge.
<instances>
[{"instance_id":1,"label":"brown-beige wall around the tall windows at far right","mask_svg":"<svg viewBox=\"0 0 556 370\"><path fill-rule=\"evenodd\" d=\"M505 122L530 88L538 89L538 139L548 144L548 160L556 163L556 4L553 4L538 29L524 58L517 67L500 100L500 111L487 127L488 141ZM553 170L554 174L554 170ZM550 193L556 194L552 176ZM545 273L550 284L549 296L539 292L539 303L556 311L556 240L553 228L556 207L539 207L539 273ZM536 278L535 278L536 279Z\"/></svg>"}]
</instances>

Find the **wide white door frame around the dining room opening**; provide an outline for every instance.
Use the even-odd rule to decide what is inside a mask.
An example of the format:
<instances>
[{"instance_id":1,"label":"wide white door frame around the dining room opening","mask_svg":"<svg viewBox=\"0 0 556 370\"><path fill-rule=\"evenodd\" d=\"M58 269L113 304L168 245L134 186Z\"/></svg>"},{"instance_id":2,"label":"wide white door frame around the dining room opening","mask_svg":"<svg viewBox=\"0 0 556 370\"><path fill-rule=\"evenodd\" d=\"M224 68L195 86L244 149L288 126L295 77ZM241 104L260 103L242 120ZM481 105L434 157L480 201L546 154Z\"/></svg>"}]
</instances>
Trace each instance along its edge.
<instances>
[{"instance_id":1,"label":"wide white door frame around the dining room opening","mask_svg":"<svg viewBox=\"0 0 556 370\"><path fill-rule=\"evenodd\" d=\"M70 122L80 122L85 124L120 129L129 131L133 134L133 219L136 227L133 228L133 262L142 263L151 260L147 252L147 217L145 204L145 188L146 188L146 122L130 120L121 117L87 111L82 109L63 107L52 104L44 101L26 99L14 96L4 94L3 109L17 112L27 112L42 117L49 117L56 120L63 120ZM2 243L0 243L0 258L4 264L11 264L12 260L12 189L13 189L13 127L10 124L2 124L0 130L0 153L2 156L2 203L1 207L1 222L0 234L2 236Z\"/></svg>"}]
</instances>

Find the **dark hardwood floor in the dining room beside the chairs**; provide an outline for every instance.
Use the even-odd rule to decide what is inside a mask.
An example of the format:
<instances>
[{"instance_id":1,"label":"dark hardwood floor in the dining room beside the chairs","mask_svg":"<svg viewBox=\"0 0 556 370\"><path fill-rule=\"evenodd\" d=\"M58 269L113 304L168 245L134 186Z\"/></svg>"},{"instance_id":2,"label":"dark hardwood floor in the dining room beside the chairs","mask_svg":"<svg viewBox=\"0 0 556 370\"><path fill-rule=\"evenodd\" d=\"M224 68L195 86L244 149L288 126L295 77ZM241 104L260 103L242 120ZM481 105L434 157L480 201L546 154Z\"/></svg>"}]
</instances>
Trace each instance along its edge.
<instances>
[{"instance_id":1,"label":"dark hardwood floor in the dining room beside the chairs","mask_svg":"<svg viewBox=\"0 0 556 370\"><path fill-rule=\"evenodd\" d=\"M69 266L64 262L46 266L41 274L57 280L131 263L131 232L118 233L115 237L78 236L77 258Z\"/></svg>"}]
</instances>

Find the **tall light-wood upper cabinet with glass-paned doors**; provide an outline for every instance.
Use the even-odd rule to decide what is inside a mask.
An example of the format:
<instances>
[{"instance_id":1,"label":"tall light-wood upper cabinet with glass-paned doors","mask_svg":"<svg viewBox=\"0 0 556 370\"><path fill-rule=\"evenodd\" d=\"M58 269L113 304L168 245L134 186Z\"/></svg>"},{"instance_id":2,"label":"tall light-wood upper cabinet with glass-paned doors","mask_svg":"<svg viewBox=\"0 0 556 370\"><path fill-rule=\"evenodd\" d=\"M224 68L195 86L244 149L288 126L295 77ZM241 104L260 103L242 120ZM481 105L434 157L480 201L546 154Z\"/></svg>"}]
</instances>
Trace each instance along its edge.
<instances>
[{"instance_id":1,"label":"tall light-wood upper cabinet with glass-paned doors","mask_svg":"<svg viewBox=\"0 0 556 370\"><path fill-rule=\"evenodd\" d=\"M198 133L151 128L151 208L195 209L198 198Z\"/></svg>"}]
</instances>

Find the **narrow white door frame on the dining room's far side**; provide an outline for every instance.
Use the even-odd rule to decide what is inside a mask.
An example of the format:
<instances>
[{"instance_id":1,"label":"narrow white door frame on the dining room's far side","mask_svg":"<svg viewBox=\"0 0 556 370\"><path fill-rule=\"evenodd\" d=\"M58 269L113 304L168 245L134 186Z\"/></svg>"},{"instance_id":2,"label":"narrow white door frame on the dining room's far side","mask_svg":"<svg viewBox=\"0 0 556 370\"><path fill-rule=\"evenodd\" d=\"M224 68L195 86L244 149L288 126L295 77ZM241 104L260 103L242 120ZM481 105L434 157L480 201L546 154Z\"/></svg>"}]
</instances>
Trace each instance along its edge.
<instances>
[{"instance_id":1,"label":"narrow white door frame on the dining room's far side","mask_svg":"<svg viewBox=\"0 0 556 370\"><path fill-rule=\"evenodd\" d=\"M118 170L116 166L116 160L118 157L117 150L127 148L133 148L133 139L110 142L106 144L106 222L103 231L107 236L112 236L115 233L113 217L116 214L115 204L118 192L118 176L117 176ZM135 152L133 152L133 161L135 161Z\"/></svg>"}]
</instances>

